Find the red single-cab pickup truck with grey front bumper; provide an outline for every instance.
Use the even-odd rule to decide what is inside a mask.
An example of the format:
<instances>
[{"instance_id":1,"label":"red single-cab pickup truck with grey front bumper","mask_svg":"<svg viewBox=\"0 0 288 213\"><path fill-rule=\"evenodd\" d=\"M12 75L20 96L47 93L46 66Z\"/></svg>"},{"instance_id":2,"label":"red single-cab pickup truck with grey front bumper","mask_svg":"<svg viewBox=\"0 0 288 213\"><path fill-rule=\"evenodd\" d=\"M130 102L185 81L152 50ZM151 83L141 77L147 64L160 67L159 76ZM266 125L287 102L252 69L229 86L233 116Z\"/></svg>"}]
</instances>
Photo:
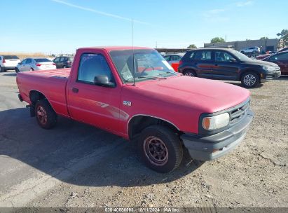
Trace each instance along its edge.
<instances>
[{"instance_id":1,"label":"red single-cab pickup truck with grey front bumper","mask_svg":"<svg viewBox=\"0 0 288 213\"><path fill-rule=\"evenodd\" d=\"M253 113L249 91L174 72L151 48L79 48L71 69L17 74L20 101L50 129L57 116L81 121L138 143L158 172L191 158L212 160L245 137Z\"/></svg>"}]
</instances>

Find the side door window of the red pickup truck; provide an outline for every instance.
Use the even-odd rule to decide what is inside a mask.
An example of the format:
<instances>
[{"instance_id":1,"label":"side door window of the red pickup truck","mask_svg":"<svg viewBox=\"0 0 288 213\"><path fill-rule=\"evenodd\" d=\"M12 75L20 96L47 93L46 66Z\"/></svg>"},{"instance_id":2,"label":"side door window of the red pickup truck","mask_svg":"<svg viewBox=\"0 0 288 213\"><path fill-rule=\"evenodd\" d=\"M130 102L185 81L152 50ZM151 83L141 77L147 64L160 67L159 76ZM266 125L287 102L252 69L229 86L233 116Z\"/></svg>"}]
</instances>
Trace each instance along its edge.
<instances>
[{"instance_id":1,"label":"side door window of the red pickup truck","mask_svg":"<svg viewBox=\"0 0 288 213\"><path fill-rule=\"evenodd\" d=\"M84 53L81 55L77 81L94 84L95 76L100 75L108 76L109 81L114 82L111 69L104 56L95 53Z\"/></svg>"}]
</instances>

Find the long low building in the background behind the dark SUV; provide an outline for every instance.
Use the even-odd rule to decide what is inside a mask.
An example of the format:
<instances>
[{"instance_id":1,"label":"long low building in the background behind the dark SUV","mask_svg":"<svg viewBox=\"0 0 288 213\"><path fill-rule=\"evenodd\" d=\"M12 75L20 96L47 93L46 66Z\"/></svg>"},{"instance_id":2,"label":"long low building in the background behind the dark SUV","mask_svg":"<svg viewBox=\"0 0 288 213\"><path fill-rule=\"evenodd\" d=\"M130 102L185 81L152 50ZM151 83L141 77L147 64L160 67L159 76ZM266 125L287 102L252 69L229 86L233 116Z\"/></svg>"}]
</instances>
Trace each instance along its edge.
<instances>
[{"instance_id":1,"label":"long low building in the background behind the dark SUV","mask_svg":"<svg viewBox=\"0 0 288 213\"><path fill-rule=\"evenodd\" d=\"M221 43L204 43L204 48L218 47L218 48L234 48L240 51L243 48L257 46L261 53L266 51L276 51L278 46L278 39L261 39L261 40L247 40L247 41L229 41Z\"/></svg>"}]
</instances>

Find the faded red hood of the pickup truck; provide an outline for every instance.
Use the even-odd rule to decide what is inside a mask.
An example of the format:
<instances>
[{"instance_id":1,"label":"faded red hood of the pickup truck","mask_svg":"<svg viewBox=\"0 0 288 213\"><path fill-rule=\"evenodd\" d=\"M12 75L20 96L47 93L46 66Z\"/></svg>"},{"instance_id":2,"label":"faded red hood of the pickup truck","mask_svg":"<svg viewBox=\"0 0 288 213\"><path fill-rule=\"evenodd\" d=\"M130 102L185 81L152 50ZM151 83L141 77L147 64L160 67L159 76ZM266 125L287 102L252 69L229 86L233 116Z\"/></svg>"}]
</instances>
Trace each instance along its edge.
<instances>
[{"instance_id":1,"label":"faded red hood of the pickup truck","mask_svg":"<svg viewBox=\"0 0 288 213\"><path fill-rule=\"evenodd\" d=\"M189 107L205 113L234 107L249 98L250 94L249 90L230 83L189 76L138 82L134 92L139 93L136 97L149 102L154 100L174 105L175 110Z\"/></svg>"}]
</instances>

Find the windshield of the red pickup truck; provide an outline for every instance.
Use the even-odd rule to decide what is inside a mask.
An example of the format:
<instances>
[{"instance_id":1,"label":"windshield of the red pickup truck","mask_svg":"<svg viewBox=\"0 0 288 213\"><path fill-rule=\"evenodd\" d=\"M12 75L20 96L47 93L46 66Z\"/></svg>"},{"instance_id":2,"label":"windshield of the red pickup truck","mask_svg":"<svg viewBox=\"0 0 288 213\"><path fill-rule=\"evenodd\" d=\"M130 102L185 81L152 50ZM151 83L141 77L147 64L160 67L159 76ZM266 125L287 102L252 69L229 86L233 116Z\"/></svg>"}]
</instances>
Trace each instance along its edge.
<instances>
[{"instance_id":1,"label":"windshield of the red pickup truck","mask_svg":"<svg viewBox=\"0 0 288 213\"><path fill-rule=\"evenodd\" d=\"M123 81L133 82L132 50L114 50L110 55ZM135 81L177 75L156 50L134 50L134 59Z\"/></svg>"}]
</instances>

